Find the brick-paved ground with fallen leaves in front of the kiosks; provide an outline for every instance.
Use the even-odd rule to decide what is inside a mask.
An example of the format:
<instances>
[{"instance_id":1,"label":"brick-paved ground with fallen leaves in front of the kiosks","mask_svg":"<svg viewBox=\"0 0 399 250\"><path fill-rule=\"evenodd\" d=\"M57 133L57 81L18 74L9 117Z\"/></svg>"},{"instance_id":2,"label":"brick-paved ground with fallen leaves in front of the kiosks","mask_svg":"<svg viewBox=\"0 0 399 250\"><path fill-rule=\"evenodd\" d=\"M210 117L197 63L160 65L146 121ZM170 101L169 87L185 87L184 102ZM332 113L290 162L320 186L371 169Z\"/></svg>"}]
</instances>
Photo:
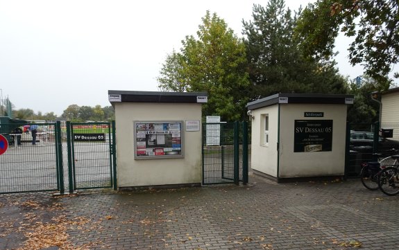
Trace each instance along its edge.
<instances>
[{"instance_id":1,"label":"brick-paved ground with fallen leaves in front of the kiosks","mask_svg":"<svg viewBox=\"0 0 399 250\"><path fill-rule=\"evenodd\" d=\"M0 195L0 249L398 249L398 205L357 179Z\"/></svg>"}]
</instances>

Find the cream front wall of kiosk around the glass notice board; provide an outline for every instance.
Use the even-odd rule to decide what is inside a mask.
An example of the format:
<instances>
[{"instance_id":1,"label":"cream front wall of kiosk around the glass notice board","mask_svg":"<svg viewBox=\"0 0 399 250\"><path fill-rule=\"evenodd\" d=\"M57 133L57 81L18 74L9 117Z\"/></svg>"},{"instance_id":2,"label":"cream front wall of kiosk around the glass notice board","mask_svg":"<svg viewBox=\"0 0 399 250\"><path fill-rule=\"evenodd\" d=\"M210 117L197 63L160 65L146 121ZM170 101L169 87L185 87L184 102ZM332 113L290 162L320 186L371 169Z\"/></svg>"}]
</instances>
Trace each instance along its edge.
<instances>
[{"instance_id":1,"label":"cream front wall of kiosk around the glass notice board","mask_svg":"<svg viewBox=\"0 0 399 250\"><path fill-rule=\"evenodd\" d=\"M119 187L193 184L202 181L201 104L114 102ZM182 121L184 158L135 159L134 121ZM186 132L185 120L200 120Z\"/></svg>"}]
</instances>

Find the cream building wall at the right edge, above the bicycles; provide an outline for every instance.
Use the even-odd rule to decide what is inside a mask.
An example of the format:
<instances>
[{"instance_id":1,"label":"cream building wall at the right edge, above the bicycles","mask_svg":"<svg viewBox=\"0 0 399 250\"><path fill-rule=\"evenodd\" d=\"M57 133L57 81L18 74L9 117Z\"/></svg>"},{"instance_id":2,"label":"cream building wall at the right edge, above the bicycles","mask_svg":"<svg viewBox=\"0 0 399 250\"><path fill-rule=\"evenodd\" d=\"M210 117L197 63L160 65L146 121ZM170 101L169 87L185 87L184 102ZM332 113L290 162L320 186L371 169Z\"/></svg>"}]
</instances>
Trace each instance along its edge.
<instances>
[{"instance_id":1,"label":"cream building wall at the right edge, above the bicycles","mask_svg":"<svg viewBox=\"0 0 399 250\"><path fill-rule=\"evenodd\" d=\"M399 92L382 96L382 123L399 123Z\"/></svg>"}]
</instances>

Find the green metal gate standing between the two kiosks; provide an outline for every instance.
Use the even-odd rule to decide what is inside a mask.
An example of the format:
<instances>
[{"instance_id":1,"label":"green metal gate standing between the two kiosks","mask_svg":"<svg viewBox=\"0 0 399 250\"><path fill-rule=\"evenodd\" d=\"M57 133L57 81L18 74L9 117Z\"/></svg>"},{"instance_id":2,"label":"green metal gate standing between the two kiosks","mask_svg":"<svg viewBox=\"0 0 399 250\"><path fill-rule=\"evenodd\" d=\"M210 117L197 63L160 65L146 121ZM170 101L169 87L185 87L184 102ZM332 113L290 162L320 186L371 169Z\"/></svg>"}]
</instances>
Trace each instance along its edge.
<instances>
[{"instance_id":1,"label":"green metal gate standing between the two kiosks","mask_svg":"<svg viewBox=\"0 0 399 250\"><path fill-rule=\"evenodd\" d=\"M248 123L203 123L203 184L248 183Z\"/></svg>"}]
</instances>

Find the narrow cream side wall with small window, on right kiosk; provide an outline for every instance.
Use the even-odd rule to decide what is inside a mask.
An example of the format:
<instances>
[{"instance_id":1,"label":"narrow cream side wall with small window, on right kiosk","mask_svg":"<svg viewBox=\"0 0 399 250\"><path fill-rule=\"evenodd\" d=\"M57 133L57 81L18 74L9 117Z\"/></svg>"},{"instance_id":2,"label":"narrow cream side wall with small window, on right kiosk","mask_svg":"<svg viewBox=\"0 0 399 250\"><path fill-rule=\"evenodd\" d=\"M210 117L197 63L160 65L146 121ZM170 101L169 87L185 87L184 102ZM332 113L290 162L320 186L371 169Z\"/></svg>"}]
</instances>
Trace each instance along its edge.
<instances>
[{"instance_id":1,"label":"narrow cream side wall with small window, on right kiosk","mask_svg":"<svg viewBox=\"0 0 399 250\"><path fill-rule=\"evenodd\" d=\"M277 177L278 105L252 111L251 168L272 177ZM264 145L264 123L262 115L269 114L269 145Z\"/></svg>"}]
</instances>

